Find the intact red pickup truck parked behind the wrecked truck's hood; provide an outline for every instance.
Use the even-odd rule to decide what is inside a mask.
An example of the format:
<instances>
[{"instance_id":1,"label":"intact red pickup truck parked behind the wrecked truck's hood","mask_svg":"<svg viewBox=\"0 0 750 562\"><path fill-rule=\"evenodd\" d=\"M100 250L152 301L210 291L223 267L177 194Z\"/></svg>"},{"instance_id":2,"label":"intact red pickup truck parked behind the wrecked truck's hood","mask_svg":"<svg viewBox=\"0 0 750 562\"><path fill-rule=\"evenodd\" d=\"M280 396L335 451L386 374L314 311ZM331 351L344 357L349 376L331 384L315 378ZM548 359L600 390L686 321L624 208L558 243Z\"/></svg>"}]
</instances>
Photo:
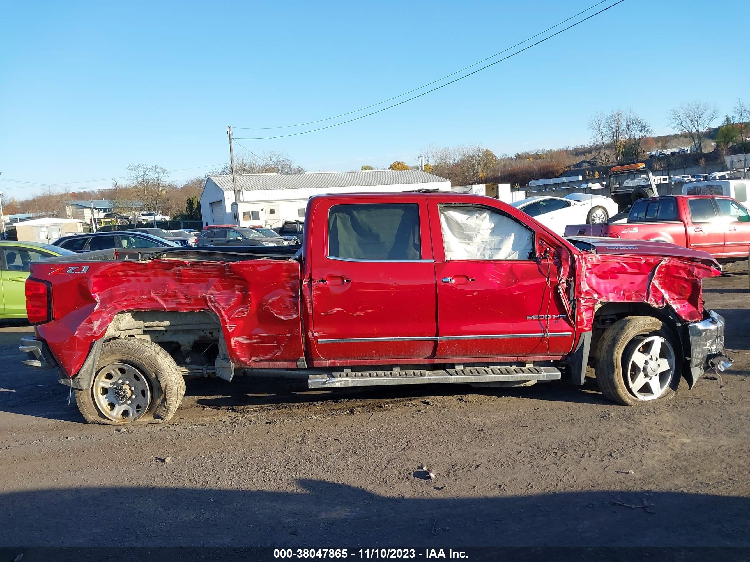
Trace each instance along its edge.
<instances>
[{"instance_id":1,"label":"intact red pickup truck parked behind the wrecked truck's hood","mask_svg":"<svg viewBox=\"0 0 750 562\"><path fill-rule=\"evenodd\" d=\"M735 262L748 258L750 216L730 197L650 197L633 203L626 223L569 225L565 236L669 242Z\"/></svg>"}]
</instances>

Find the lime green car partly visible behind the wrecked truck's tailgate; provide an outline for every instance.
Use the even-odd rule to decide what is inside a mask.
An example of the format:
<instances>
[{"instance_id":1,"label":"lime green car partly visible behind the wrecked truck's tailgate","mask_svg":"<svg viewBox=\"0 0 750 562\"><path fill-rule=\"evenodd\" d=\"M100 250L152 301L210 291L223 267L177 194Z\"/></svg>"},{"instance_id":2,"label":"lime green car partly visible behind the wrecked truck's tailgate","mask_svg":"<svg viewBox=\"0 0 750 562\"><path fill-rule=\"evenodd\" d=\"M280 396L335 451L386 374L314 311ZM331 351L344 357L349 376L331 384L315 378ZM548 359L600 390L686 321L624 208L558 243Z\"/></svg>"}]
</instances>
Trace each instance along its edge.
<instances>
[{"instance_id":1,"label":"lime green car partly visible behind the wrecked truck's tailgate","mask_svg":"<svg viewBox=\"0 0 750 562\"><path fill-rule=\"evenodd\" d=\"M28 264L74 254L49 244L0 240L0 318L26 318Z\"/></svg>"}]
</instances>

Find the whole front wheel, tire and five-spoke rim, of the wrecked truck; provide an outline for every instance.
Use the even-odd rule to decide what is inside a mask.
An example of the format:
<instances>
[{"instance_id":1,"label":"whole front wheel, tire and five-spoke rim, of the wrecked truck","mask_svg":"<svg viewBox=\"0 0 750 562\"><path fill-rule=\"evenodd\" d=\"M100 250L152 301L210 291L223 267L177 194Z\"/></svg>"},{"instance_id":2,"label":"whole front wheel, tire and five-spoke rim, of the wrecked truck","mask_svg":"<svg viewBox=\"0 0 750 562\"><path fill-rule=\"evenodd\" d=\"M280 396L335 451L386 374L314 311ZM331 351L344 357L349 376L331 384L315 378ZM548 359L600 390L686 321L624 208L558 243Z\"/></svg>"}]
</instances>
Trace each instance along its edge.
<instances>
[{"instance_id":1,"label":"whole front wheel, tire and five-spoke rim, of the wrecked truck","mask_svg":"<svg viewBox=\"0 0 750 562\"><path fill-rule=\"evenodd\" d=\"M681 364L679 342L661 320L628 316L599 340L596 383L604 396L622 405L663 401L676 393Z\"/></svg>"}]
</instances>

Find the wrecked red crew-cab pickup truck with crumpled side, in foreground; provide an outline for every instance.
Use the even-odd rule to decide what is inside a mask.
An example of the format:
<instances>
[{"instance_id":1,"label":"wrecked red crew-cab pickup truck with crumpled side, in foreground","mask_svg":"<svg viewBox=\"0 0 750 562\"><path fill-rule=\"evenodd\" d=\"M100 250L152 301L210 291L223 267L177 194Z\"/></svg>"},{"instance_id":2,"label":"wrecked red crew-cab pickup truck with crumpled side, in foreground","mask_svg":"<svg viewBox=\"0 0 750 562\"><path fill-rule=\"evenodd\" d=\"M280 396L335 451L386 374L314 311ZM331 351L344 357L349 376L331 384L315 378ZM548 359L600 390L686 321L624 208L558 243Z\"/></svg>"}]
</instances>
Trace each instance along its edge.
<instances>
[{"instance_id":1,"label":"wrecked red crew-cab pickup truck with crumpled side, in foreground","mask_svg":"<svg viewBox=\"0 0 750 562\"><path fill-rule=\"evenodd\" d=\"M730 364L711 256L565 240L496 199L316 196L302 249L103 250L31 265L26 364L89 423L169 420L184 378L302 369L311 388L583 384L638 405ZM236 250L236 249L235 249ZM273 250L273 251L272 251ZM256 253L248 253L248 252ZM723 363L722 363L723 362Z\"/></svg>"}]
</instances>

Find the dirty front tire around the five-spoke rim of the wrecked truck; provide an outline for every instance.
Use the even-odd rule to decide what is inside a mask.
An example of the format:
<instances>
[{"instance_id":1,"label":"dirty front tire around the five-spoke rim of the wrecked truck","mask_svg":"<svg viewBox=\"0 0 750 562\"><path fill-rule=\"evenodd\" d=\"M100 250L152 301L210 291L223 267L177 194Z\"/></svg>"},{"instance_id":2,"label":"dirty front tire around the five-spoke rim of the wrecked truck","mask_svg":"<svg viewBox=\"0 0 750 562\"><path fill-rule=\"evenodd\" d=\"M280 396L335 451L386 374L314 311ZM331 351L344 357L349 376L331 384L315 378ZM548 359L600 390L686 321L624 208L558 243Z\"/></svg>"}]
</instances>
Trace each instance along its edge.
<instances>
[{"instance_id":1,"label":"dirty front tire around the five-spoke rim of the wrecked truck","mask_svg":"<svg viewBox=\"0 0 750 562\"><path fill-rule=\"evenodd\" d=\"M639 399L625 382L628 373L628 357L640 339L661 336L671 345L673 351L672 378L664 391L655 399ZM604 331L596 349L596 384L599 390L612 402L626 406L639 406L649 402L664 402L676 393L682 376L682 348L673 333L658 318L652 316L628 316L612 324Z\"/></svg>"}]
</instances>

